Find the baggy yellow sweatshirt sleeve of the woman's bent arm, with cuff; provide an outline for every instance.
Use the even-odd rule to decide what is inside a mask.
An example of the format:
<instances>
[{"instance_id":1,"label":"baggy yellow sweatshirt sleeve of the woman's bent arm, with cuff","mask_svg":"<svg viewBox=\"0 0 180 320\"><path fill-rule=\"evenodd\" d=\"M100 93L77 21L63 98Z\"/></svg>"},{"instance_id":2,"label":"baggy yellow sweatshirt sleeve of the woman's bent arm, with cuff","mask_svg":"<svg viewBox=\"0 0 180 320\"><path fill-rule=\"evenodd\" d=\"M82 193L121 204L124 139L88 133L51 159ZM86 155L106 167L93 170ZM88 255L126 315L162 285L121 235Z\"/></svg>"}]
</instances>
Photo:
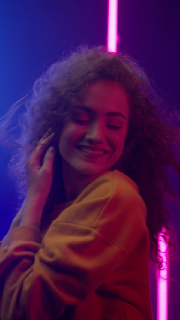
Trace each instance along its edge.
<instances>
[{"instance_id":1,"label":"baggy yellow sweatshirt sleeve of the woman's bent arm, with cuff","mask_svg":"<svg viewBox=\"0 0 180 320\"><path fill-rule=\"evenodd\" d=\"M145 205L129 186L124 197L127 185L91 184L52 222L42 245L35 227L12 230L0 252L1 320L55 320L126 259L147 231Z\"/></svg>"}]
</instances>

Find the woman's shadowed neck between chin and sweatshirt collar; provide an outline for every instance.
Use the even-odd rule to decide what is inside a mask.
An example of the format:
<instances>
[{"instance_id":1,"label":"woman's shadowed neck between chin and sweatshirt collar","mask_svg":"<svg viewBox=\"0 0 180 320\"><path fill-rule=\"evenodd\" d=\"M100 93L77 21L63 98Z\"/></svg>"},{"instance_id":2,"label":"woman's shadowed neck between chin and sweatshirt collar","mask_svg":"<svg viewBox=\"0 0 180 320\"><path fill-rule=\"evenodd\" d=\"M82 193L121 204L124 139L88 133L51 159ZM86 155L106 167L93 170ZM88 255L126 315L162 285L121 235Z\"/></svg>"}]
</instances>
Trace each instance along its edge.
<instances>
[{"instance_id":1,"label":"woman's shadowed neck between chin and sweatshirt collar","mask_svg":"<svg viewBox=\"0 0 180 320\"><path fill-rule=\"evenodd\" d=\"M66 202L74 200L92 181L107 171L94 175L83 174L75 170L70 164L62 159L62 176L66 195Z\"/></svg>"}]
</instances>

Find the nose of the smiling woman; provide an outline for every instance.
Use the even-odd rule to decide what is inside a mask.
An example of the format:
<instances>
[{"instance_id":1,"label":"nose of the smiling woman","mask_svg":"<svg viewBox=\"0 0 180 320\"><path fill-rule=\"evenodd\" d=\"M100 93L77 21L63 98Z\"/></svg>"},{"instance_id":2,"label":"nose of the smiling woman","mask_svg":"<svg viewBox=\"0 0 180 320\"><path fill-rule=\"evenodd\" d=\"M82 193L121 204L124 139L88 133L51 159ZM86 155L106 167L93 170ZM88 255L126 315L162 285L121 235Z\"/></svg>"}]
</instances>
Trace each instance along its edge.
<instances>
[{"instance_id":1,"label":"nose of the smiling woman","mask_svg":"<svg viewBox=\"0 0 180 320\"><path fill-rule=\"evenodd\" d=\"M88 140L89 143L93 144L100 144L104 142L105 128L104 124L101 121L96 120L89 125L88 131L86 133L86 140Z\"/></svg>"}]
</instances>

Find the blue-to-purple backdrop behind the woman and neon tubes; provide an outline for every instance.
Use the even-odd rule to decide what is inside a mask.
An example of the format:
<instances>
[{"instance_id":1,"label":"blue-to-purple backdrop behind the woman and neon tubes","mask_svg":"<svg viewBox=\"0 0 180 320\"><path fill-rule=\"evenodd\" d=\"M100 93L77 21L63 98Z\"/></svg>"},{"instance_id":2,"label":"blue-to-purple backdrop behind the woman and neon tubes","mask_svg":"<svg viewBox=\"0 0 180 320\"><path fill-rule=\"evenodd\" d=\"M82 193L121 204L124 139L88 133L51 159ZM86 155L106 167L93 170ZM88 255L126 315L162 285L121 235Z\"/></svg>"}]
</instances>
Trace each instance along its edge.
<instances>
[{"instance_id":1,"label":"blue-to-purple backdrop behind the woman and neon tubes","mask_svg":"<svg viewBox=\"0 0 180 320\"><path fill-rule=\"evenodd\" d=\"M1 0L0 117L23 97L37 77L63 53L80 44L106 44L107 0ZM160 95L180 109L180 3L175 0L119 0L119 51L130 53L153 79ZM9 155L0 147L0 238L17 206L7 180ZM170 177L180 195L180 179ZM180 215L172 203L171 223L180 247ZM151 265L153 269L153 265ZM180 258L170 264L169 320L180 319ZM156 319L156 282L151 297Z\"/></svg>"}]
</instances>

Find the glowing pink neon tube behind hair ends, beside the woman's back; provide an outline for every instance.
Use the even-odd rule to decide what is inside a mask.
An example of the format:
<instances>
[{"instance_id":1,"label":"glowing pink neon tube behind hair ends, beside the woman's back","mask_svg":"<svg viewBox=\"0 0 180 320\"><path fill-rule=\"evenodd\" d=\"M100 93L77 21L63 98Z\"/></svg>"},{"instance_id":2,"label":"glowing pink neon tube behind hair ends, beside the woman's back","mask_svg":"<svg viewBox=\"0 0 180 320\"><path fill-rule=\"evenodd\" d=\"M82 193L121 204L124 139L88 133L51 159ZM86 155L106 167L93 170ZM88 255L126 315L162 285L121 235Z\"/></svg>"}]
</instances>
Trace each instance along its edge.
<instances>
[{"instance_id":1,"label":"glowing pink neon tube behind hair ends, beside the woman's back","mask_svg":"<svg viewBox=\"0 0 180 320\"><path fill-rule=\"evenodd\" d=\"M165 230L163 229L162 232ZM168 320L168 251L167 243L159 235L159 248L164 261L163 269L157 274L157 320Z\"/></svg>"}]
</instances>

